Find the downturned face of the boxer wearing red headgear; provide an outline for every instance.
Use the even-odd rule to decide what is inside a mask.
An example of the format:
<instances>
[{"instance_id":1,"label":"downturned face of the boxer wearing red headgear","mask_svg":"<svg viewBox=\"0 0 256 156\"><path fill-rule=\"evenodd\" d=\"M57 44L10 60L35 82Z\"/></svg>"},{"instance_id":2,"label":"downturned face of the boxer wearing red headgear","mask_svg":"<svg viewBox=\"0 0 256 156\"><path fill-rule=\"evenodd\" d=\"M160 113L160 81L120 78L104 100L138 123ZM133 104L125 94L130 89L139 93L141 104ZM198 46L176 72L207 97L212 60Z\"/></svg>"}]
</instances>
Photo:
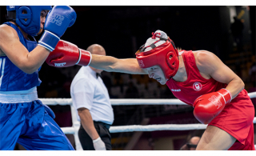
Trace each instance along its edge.
<instances>
[{"instance_id":1,"label":"downturned face of the boxer wearing red headgear","mask_svg":"<svg viewBox=\"0 0 256 156\"><path fill-rule=\"evenodd\" d=\"M160 66L151 66L149 68L146 68L146 70L148 71L150 78L154 78L162 85L166 84L166 77L165 74L163 74Z\"/></svg>"}]
</instances>

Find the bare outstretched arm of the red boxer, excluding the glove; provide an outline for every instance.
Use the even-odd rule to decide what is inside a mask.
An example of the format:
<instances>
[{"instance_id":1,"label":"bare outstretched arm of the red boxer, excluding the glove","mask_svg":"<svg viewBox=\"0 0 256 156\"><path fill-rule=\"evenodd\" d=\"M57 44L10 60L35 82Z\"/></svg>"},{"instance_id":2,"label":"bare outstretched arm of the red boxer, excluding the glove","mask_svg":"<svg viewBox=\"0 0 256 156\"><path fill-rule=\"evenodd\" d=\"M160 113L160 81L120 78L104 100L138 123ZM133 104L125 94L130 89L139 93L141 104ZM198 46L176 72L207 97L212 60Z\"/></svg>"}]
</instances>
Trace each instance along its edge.
<instances>
[{"instance_id":1,"label":"bare outstretched arm of the red boxer, excluding the glove","mask_svg":"<svg viewBox=\"0 0 256 156\"><path fill-rule=\"evenodd\" d=\"M89 66L109 72L120 72L126 74L147 74L146 70L143 70L141 67L138 66L136 58L118 59L111 56L92 54Z\"/></svg>"}]
</instances>

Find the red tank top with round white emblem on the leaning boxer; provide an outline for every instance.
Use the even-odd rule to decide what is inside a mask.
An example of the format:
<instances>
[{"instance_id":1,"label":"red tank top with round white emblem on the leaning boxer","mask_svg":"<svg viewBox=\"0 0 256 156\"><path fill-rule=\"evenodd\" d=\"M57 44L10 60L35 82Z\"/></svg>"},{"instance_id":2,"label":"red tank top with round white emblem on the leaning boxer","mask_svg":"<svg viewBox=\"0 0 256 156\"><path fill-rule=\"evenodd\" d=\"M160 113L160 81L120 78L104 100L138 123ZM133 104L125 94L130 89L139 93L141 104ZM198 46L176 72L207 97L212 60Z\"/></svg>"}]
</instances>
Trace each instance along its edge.
<instances>
[{"instance_id":1,"label":"red tank top with round white emblem on the leaning boxer","mask_svg":"<svg viewBox=\"0 0 256 156\"><path fill-rule=\"evenodd\" d=\"M202 94L208 94L226 88L226 84L217 82L214 78L202 78L198 66L195 63L192 50L184 51L182 58L186 67L187 80L185 82L176 82L170 78L166 82L166 85L176 98L193 106L194 100Z\"/></svg>"}]
</instances>

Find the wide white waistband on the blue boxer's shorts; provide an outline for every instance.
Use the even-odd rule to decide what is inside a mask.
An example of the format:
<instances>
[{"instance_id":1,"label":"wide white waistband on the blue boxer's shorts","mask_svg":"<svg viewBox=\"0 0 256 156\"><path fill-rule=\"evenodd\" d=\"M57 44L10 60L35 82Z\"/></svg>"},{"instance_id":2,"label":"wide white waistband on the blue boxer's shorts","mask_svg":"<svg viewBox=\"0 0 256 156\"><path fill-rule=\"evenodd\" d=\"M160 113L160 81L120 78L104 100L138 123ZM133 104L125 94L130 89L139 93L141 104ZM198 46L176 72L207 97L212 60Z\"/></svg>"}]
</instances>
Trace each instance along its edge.
<instances>
[{"instance_id":1,"label":"wide white waistband on the blue boxer's shorts","mask_svg":"<svg viewBox=\"0 0 256 156\"><path fill-rule=\"evenodd\" d=\"M38 91L36 86L30 90L22 91L0 91L1 103L23 103L33 102L38 99Z\"/></svg>"}]
</instances>

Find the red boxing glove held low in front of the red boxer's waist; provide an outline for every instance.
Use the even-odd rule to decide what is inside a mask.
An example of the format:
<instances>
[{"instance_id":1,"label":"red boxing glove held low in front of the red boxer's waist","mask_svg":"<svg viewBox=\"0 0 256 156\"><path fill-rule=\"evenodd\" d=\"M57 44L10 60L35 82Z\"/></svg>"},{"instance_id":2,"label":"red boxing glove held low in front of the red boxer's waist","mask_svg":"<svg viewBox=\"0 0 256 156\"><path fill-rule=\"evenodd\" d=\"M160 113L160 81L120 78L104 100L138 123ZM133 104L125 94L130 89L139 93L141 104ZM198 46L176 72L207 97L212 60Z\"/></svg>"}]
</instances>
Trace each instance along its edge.
<instances>
[{"instance_id":1,"label":"red boxing glove held low in front of the red boxer's waist","mask_svg":"<svg viewBox=\"0 0 256 156\"><path fill-rule=\"evenodd\" d=\"M230 91L224 88L217 92L204 94L194 101L194 117L199 122L208 124L222 112L226 103L229 103L231 99Z\"/></svg>"}]
</instances>

